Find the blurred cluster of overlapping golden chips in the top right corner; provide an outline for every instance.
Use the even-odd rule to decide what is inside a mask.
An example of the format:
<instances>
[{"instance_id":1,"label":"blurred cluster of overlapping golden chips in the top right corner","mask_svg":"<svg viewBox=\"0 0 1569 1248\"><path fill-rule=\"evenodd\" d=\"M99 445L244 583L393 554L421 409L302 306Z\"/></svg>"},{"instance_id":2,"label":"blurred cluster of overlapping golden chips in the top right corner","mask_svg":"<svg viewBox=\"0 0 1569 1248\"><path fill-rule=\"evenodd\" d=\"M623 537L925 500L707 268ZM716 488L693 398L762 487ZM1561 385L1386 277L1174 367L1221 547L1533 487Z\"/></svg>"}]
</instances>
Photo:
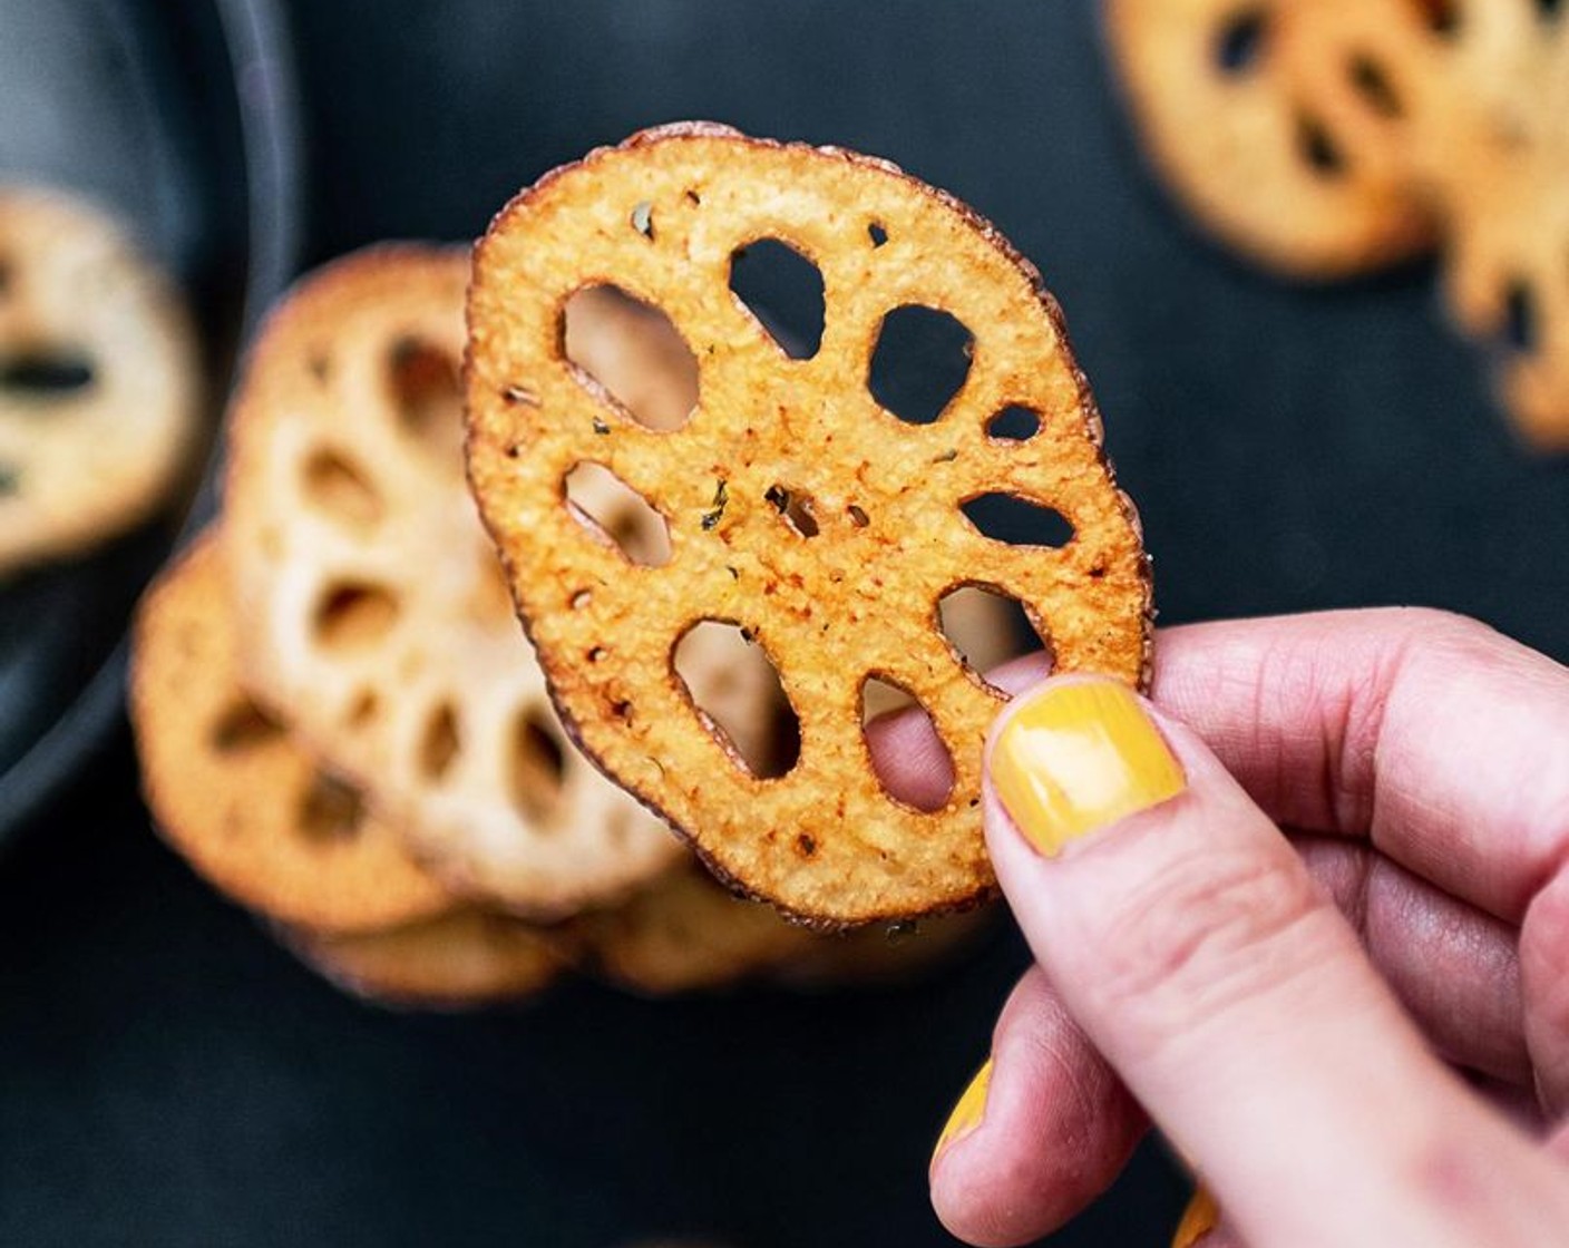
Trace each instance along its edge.
<instances>
[{"instance_id":1,"label":"blurred cluster of overlapping golden chips in the top right corner","mask_svg":"<svg viewBox=\"0 0 1569 1248\"><path fill-rule=\"evenodd\" d=\"M1106 0L1152 163L1293 278L1439 250L1531 446L1569 451L1569 19L1544 0Z\"/></svg>"}]
</instances>

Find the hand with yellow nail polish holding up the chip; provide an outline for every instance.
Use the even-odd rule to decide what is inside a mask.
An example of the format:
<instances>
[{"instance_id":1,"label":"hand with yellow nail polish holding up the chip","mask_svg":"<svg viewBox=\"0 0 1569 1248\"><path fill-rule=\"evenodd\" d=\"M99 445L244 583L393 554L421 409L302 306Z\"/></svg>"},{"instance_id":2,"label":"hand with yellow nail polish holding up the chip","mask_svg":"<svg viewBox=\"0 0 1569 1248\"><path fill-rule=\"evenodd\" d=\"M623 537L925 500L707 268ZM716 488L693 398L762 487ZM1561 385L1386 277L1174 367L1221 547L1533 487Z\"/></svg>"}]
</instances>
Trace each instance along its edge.
<instances>
[{"instance_id":1,"label":"hand with yellow nail polish holding up the chip","mask_svg":"<svg viewBox=\"0 0 1569 1248\"><path fill-rule=\"evenodd\" d=\"M1039 965L934 1157L948 1228L1054 1229L1147 1111L1203 1248L1569 1243L1569 670L1343 612L1170 629L1153 724L1119 694L1056 678L988 744Z\"/></svg>"}]
</instances>

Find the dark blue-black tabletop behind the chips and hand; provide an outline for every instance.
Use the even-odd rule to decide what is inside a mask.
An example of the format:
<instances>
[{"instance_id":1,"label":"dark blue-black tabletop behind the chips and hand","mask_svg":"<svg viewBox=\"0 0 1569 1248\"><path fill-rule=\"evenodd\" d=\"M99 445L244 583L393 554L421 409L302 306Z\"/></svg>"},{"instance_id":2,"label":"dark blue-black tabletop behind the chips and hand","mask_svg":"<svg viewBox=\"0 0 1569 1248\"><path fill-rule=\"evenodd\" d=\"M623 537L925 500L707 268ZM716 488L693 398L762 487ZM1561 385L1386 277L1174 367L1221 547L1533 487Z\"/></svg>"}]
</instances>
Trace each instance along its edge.
<instances>
[{"instance_id":1,"label":"dark blue-black tabletop behind the chips and hand","mask_svg":"<svg viewBox=\"0 0 1569 1248\"><path fill-rule=\"evenodd\" d=\"M1514 444L1432 272L1315 290L1205 242L1084 0L287 8L306 261L474 237L678 118L885 155L1059 297L1163 620L1423 603L1569 658L1569 468ZM855 997L367 1009L155 841L121 733L0 863L0 1242L948 1243L926 1157L1021 965L1003 936ZM1166 1243L1185 1184L1153 1151L1134 1177L1053 1243Z\"/></svg>"}]
</instances>

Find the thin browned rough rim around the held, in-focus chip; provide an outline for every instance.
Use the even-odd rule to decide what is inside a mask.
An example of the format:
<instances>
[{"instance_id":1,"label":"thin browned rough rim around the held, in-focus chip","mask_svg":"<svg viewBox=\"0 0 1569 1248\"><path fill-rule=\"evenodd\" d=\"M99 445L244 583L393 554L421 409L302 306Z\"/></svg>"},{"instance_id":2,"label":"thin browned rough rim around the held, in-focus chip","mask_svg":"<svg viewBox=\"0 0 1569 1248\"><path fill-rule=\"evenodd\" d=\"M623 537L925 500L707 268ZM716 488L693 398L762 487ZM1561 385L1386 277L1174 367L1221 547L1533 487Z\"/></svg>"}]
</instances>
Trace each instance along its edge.
<instances>
[{"instance_id":1,"label":"thin browned rough rim around the held, in-focus chip","mask_svg":"<svg viewBox=\"0 0 1569 1248\"><path fill-rule=\"evenodd\" d=\"M543 173L530 185L524 187L521 192L513 195L511 199L508 199L501 207L501 210L496 212L494 217L491 217L485 235L474 245L474 253L472 253L474 261L477 262L479 257L485 253L486 243L490 242L493 234L505 228L515 215L527 209L529 204L533 201L533 198L540 195L544 188L552 185L557 179L565 177L582 166L602 160L609 155L615 155L618 152L635 151L637 148L646 148L657 143L679 143L689 138L723 138L741 143L748 148L764 149L764 151L792 151L792 149L808 151L808 152L816 152L819 155L832 157L835 160L843 160L850 165L858 165L861 168L876 170L883 174L891 174L893 177L907 182L918 195L926 196L929 199L935 199L943 207L957 213L965 224L976 229L987 243L995 246L998 253L1003 256L1003 259L1007 261L1007 264L1010 264L1015 270L1018 270L1018 273L1025 278L1029 289L1034 292L1037 301L1040 303L1042 311L1047 314L1047 319L1051 323L1051 330L1056 334L1058 342L1061 344L1064 356L1068 363L1068 369L1073 375L1073 386L1076 392L1078 408L1084 414L1084 429L1090 440L1090 446L1094 446L1095 449L1097 463L1106 473L1106 479L1111 484L1111 488L1117 494L1117 501L1122 507L1123 516L1127 518L1127 521L1133 527L1133 532L1139 538L1139 546L1141 546L1139 581L1144 589L1144 612L1142 612L1144 647L1139 664L1138 689L1141 692L1147 691L1150 686L1150 675L1153 670L1153 655L1155 655L1153 568L1149 551L1142 549L1144 526L1139 521L1138 507L1134 507L1133 499L1128 498L1127 491L1117 485L1117 477L1112 469L1111 457L1106 454L1105 424L1101 421L1100 407L1095 403L1095 397L1089 388L1089 378L1079 367L1078 356L1073 352L1072 342L1068 341L1067 320L1062 316L1062 308L1058 303L1056 297L1047 289L1045 279L1042 278L1040 270L1036 267L1036 264L1029 261L1023 253L1020 253L1018 248L1015 248L990 220L982 217L979 212L970 207L970 204L963 203L951 192L946 192L940 187L934 187L929 182L923 182L919 177L905 173L899 165L893 163L891 160L876 155L866 155L863 152L857 152L849 148L814 146L811 143L783 141L777 138L755 138L752 135L742 133L734 126L728 126L722 121L672 121L662 126L651 126L648 129L637 130L635 133L629 135L620 143L593 148L587 155L577 160L570 160L563 165L557 165L555 168ZM472 375L472 364L474 364L472 309L474 309L474 281L471 278L466 295L466 308L464 308L464 323L468 327L468 333L464 334L464 344L463 344L463 378L461 378L464 400L468 397L469 380ZM468 476L469 480L469 488L472 491L474 490L472 451L474 451L475 425L474 421L469 419L466 403L464 403L463 424L464 424L463 465L464 465L464 474ZM538 651L538 647L535 645L532 622L522 611L522 604L518 601L515 589L518 582L518 570L513 567L511 556L497 540L496 531L491 527L486 509L479 507L477 510L480 513L482 523L485 524L485 532L490 535L491 543L496 546L496 551L501 556L502 567L507 570L507 590L513 600L513 611L516 612L518 620L522 625L522 631L529 639L529 645L535 647L535 651ZM634 799L637 799L640 805L646 807L659 819L662 819L672 830L675 830L675 834L681 837L681 840L692 849L692 852L697 854L698 860L709 871L709 874L712 874L714 879L717 879L725 889L728 889L739 898L744 898L747 901L766 903L772 906L775 910L778 910L780 915L783 915L786 920L799 926L821 932L839 932L839 931L854 931L858 928L868 928L876 923L902 923L916 918L935 917L940 914L963 914L968 910L974 910L981 906L985 906L988 901L993 901L999 896L1001 890L993 882L990 885L982 885L971 896L941 903L927 910L919 910L915 914L869 912L858 915L854 920L846 920L846 918L830 918L825 915L806 914L794 907L789 907L786 904L781 904L777 898L755 892L744 881L736 879L719 862L715 862L704 851L704 846L698 843L697 837L689 829L683 827L675 819L672 819L670 815L664 808L661 808L661 805L654 799L639 791L635 786L628 785L621 777L612 772L592 749L588 749L588 744L584 741L577 721L573 717L571 711L566 708L563 699L560 697L555 681L555 672L552 670L554 666L544 662L541 658L540 669L544 672L544 686L551 695L551 705L555 708L555 717L562 722L562 728L566 732L568 739L573 743L577 752L584 758L587 758L607 780L610 780L610 783L629 793Z\"/></svg>"}]
</instances>

